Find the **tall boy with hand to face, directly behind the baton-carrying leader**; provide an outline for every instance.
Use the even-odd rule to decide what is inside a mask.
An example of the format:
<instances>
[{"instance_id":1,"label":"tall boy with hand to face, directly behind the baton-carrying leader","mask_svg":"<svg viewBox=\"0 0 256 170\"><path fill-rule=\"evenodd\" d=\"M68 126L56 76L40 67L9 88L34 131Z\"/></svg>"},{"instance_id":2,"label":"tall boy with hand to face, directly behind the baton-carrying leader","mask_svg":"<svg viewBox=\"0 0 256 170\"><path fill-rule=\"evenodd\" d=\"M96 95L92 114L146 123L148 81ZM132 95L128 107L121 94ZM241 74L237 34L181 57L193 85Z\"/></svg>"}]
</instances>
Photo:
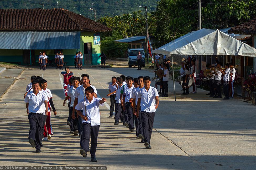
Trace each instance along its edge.
<instances>
[{"instance_id":1,"label":"tall boy with hand to face, directly behind the baton-carrying leader","mask_svg":"<svg viewBox=\"0 0 256 170\"><path fill-rule=\"evenodd\" d=\"M75 115L75 107L76 107L78 101L81 101L85 98L85 89L87 87L92 87L93 88L94 97L97 98L97 90L94 86L92 86L89 83L90 82L89 75L88 74L82 74L81 77L82 77L82 79L81 79L82 86L77 87L76 91L75 91L75 100L74 100L74 105L73 105L72 117L74 117L74 115ZM79 119L79 125L81 126L82 125L82 119L81 119L80 116L78 117L78 119Z\"/></svg>"}]
</instances>

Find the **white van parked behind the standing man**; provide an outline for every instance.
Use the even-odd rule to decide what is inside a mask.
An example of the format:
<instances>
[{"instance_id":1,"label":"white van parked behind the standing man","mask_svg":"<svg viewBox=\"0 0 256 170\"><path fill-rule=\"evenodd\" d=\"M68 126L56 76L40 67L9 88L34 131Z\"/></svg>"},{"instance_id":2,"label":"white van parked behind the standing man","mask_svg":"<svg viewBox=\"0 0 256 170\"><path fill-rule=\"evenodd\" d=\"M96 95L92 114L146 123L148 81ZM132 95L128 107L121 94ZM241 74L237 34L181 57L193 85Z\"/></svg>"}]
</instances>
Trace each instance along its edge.
<instances>
[{"instance_id":1,"label":"white van parked behind the standing man","mask_svg":"<svg viewBox=\"0 0 256 170\"><path fill-rule=\"evenodd\" d=\"M145 52L144 52L143 48L128 49L127 58L128 58L128 66L129 67L138 65L137 55L139 52L142 55L142 59L141 59L140 63L143 67L145 67Z\"/></svg>"}]
</instances>

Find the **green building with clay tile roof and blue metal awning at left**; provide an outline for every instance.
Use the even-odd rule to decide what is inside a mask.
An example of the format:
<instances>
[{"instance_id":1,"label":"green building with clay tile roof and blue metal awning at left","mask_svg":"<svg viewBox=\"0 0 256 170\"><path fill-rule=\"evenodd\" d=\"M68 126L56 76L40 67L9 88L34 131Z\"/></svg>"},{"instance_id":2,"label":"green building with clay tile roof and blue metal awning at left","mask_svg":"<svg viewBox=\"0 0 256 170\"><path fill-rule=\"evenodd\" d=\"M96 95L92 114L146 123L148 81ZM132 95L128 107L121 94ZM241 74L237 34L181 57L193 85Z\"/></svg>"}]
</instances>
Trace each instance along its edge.
<instances>
[{"instance_id":1,"label":"green building with clay tile roof and blue metal awning at left","mask_svg":"<svg viewBox=\"0 0 256 170\"><path fill-rule=\"evenodd\" d=\"M0 61L38 65L38 55L49 60L58 51L66 65L74 65L81 51L83 65L100 64L100 33L108 27L65 9L0 9Z\"/></svg>"}]
</instances>

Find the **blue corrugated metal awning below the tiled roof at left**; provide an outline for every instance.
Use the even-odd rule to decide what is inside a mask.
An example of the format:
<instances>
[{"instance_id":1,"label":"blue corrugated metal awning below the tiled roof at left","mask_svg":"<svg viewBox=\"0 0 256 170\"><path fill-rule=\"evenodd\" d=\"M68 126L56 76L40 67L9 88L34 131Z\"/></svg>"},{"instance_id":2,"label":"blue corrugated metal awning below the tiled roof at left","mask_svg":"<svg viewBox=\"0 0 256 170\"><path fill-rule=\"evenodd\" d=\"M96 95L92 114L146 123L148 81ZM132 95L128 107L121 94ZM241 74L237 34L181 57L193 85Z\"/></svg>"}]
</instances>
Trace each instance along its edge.
<instances>
[{"instance_id":1,"label":"blue corrugated metal awning below the tiled roof at left","mask_svg":"<svg viewBox=\"0 0 256 170\"><path fill-rule=\"evenodd\" d=\"M79 49L80 31L0 32L0 49Z\"/></svg>"}]
</instances>

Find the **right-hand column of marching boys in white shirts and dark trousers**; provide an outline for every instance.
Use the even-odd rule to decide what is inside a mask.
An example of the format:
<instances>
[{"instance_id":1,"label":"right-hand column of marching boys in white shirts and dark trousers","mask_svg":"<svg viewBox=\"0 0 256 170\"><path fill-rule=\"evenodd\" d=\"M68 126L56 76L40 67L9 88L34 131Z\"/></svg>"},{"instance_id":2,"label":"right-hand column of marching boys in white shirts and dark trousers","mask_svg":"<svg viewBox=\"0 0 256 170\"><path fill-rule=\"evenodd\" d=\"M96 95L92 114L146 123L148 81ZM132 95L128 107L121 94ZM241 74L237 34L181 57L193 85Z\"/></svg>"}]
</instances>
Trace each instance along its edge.
<instances>
[{"instance_id":1,"label":"right-hand column of marching boys in white shirts and dark trousers","mask_svg":"<svg viewBox=\"0 0 256 170\"><path fill-rule=\"evenodd\" d=\"M136 139L141 139L146 149L151 149L150 138L156 109L159 105L159 95L156 88L151 87L150 77L139 76L138 78L112 77L109 84L111 106L110 116L113 116L115 107L115 123L123 123L134 132L136 128Z\"/></svg>"}]
</instances>

